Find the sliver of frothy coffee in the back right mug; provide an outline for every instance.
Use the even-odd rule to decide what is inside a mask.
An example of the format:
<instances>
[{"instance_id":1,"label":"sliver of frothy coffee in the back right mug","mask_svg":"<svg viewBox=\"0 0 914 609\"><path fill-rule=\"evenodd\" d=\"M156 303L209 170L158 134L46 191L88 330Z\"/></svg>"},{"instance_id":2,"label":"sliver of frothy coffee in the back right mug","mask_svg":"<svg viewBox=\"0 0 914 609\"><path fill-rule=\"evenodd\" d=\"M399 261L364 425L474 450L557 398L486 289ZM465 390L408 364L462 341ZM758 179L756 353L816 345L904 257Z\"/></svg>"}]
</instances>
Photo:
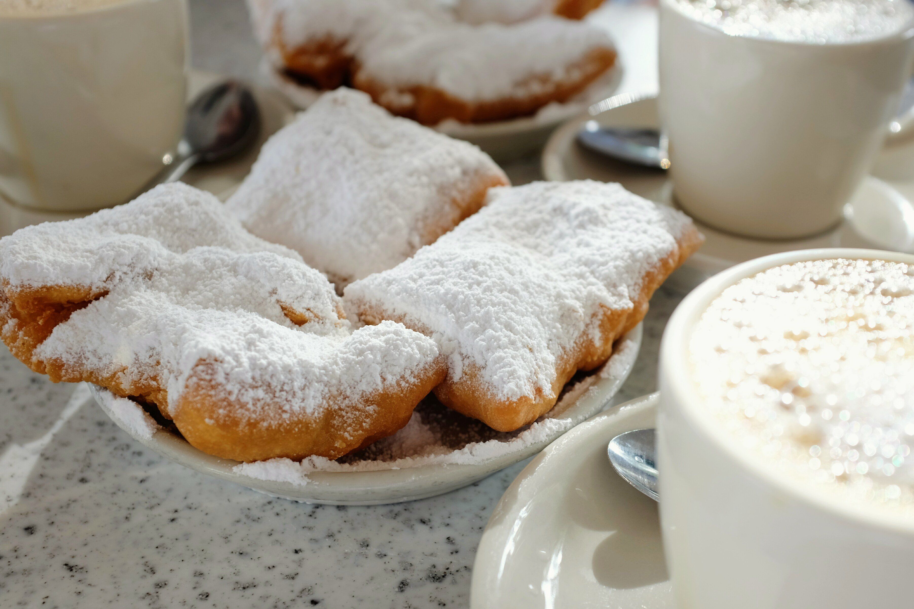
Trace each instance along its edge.
<instances>
[{"instance_id":1,"label":"sliver of frothy coffee in the back right mug","mask_svg":"<svg viewBox=\"0 0 914 609\"><path fill-rule=\"evenodd\" d=\"M667 1L732 36L785 42L862 42L897 34L914 19L909 0Z\"/></svg>"}]
</instances>

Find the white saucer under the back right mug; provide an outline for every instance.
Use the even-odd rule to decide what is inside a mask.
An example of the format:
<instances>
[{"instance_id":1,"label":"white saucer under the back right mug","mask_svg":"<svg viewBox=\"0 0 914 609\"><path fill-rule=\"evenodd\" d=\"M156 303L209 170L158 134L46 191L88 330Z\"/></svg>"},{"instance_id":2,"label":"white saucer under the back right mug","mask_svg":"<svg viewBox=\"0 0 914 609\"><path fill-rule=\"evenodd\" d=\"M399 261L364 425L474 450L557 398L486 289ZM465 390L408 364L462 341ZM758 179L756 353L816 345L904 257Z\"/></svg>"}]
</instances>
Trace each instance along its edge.
<instances>
[{"instance_id":1,"label":"white saucer under the back right mug","mask_svg":"<svg viewBox=\"0 0 914 609\"><path fill-rule=\"evenodd\" d=\"M547 180L619 182L635 194L673 205L672 184L661 170L614 161L576 141L587 121L604 126L658 127L656 98L617 95L590 107L549 138L542 171ZM814 247L866 247L914 252L914 207L892 185L867 177L845 208L845 222L819 236L772 241L729 235L699 223L705 245L685 262L695 283L752 258Z\"/></svg>"}]
</instances>

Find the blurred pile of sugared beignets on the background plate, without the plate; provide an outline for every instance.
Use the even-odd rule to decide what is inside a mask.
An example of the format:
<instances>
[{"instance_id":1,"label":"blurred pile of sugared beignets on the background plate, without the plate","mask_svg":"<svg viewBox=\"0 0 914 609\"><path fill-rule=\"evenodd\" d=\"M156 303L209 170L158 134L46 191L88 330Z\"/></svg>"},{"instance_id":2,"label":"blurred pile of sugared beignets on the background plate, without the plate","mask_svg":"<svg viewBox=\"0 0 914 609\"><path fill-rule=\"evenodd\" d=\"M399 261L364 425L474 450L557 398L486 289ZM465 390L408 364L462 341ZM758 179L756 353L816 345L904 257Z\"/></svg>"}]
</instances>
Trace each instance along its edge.
<instances>
[{"instance_id":1,"label":"blurred pile of sugared beignets on the background plate, without the plate","mask_svg":"<svg viewBox=\"0 0 914 609\"><path fill-rule=\"evenodd\" d=\"M251 0L251 13L274 68L430 125L533 114L616 60L602 30L558 16L470 25L429 0Z\"/></svg>"}]
</instances>

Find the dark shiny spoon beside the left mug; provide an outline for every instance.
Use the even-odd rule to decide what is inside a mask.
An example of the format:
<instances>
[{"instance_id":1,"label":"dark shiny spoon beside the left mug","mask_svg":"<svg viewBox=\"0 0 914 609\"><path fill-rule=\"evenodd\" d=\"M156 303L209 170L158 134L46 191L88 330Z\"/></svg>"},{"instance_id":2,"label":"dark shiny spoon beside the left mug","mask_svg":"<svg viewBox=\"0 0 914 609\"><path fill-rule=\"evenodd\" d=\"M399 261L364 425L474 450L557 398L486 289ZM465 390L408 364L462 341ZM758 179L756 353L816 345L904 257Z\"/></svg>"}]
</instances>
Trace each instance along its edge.
<instances>
[{"instance_id":1,"label":"dark shiny spoon beside the left mug","mask_svg":"<svg viewBox=\"0 0 914 609\"><path fill-rule=\"evenodd\" d=\"M156 176L154 184L176 182L197 163L228 159L250 146L259 132L260 110L250 89L236 80L213 85L187 108L176 163Z\"/></svg>"}]
</instances>

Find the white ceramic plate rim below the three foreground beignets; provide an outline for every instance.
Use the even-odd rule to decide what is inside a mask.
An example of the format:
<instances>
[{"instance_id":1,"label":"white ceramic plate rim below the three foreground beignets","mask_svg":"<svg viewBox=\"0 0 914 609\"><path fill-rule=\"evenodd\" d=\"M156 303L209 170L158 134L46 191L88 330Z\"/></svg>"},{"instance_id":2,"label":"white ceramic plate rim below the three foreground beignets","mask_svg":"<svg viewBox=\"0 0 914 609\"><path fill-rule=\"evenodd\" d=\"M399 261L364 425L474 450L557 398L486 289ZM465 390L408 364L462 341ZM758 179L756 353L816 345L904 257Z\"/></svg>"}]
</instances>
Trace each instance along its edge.
<instances>
[{"instance_id":1,"label":"white ceramic plate rim below the three foreground beignets","mask_svg":"<svg viewBox=\"0 0 914 609\"><path fill-rule=\"evenodd\" d=\"M612 396L619 391L622 383L632 371L632 365L641 346L641 339L642 327L639 324L622 339L631 341L631 344L613 355L610 362L607 363L608 367L604 370L611 371L611 373L592 374L575 385L573 392L569 395L570 399L564 402L564 404L568 404L567 407L561 412L549 413L546 415L547 418L567 421L566 428L569 428L571 425L578 425L581 421L599 413L610 404ZM465 487L499 469L536 455L562 433L553 433L535 444L519 446L512 452L473 465L423 465L377 471L314 472L308 475L307 484L300 485L241 475L232 469L239 465L237 461L211 457L202 453L197 448L190 446L179 434L166 428L158 430L151 438L136 434L132 431L131 425L125 425L122 422L112 407L113 394L95 385L90 385L90 387L102 410L112 418L115 424L143 446L151 448L163 457L204 474L230 480L268 495L307 503L374 505L441 495L441 493Z\"/></svg>"}]
</instances>

